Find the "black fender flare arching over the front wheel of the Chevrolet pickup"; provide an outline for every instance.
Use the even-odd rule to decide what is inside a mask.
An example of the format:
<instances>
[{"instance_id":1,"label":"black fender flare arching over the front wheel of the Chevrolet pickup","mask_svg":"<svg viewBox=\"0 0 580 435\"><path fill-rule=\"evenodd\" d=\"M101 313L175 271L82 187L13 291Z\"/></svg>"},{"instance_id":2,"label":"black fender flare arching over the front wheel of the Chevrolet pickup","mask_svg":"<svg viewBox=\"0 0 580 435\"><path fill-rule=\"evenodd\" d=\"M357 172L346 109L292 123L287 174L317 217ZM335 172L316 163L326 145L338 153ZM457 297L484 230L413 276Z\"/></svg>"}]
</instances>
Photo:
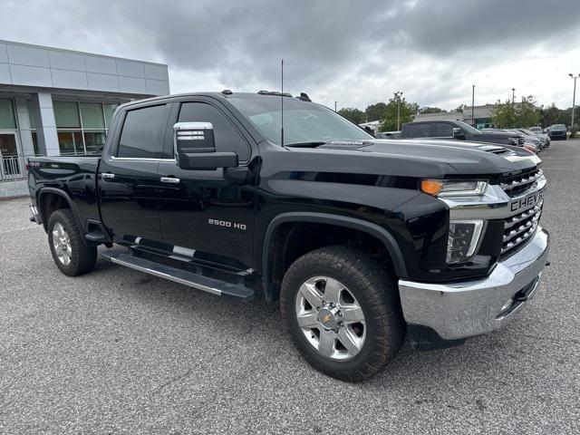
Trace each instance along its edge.
<instances>
[{"instance_id":1,"label":"black fender flare arching over the front wheel of the Chevrolet pickup","mask_svg":"<svg viewBox=\"0 0 580 435\"><path fill-rule=\"evenodd\" d=\"M330 224L338 227L348 227L362 232L368 233L373 237L382 241L382 244L387 248L392 259L392 265L395 273L398 276L407 276L407 268L401 253L401 248L391 233L383 227L380 227L372 222L350 218L348 216L334 215L330 213L315 213L315 212L288 212L277 215L273 218L267 229L264 237L264 244L262 245L262 273L264 284L269 287L271 284L271 270L270 270L270 245L272 237L275 234L275 229L286 222L315 222L321 224Z\"/></svg>"}]
</instances>

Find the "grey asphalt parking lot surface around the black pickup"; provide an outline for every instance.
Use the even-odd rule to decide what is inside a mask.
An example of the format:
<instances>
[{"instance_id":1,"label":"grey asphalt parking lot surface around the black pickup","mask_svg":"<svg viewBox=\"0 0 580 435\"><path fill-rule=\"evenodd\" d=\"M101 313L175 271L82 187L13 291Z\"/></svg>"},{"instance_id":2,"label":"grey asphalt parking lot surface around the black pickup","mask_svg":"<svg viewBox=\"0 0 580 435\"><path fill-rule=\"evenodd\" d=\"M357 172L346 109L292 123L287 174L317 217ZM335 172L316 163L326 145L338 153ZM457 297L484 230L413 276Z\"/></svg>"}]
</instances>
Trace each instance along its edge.
<instances>
[{"instance_id":1,"label":"grey asphalt parking lot surface around the black pickup","mask_svg":"<svg viewBox=\"0 0 580 435\"><path fill-rule=\"evenodd\" d=\"M541 157L552 263L527 310L359 384L311 369L262 301L102 259L61 274L28 200L0 202L0 433L579 433L580 140Z\"/></svg>"}]
</instances>

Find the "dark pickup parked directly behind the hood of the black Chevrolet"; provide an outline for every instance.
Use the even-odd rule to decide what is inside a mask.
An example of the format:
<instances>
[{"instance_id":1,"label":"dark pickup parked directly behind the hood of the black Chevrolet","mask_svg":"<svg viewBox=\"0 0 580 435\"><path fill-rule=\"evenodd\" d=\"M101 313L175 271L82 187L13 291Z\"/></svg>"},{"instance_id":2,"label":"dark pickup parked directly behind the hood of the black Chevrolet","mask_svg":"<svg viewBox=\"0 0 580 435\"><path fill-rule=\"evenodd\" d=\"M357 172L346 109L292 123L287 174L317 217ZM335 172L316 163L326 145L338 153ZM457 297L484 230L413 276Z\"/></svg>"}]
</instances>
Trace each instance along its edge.
<instances>
[{"instance_id":1,"label":"dark pickup parked directly behind the hood of the black Chevrolet","mask_svg":"<svg viewBox=\"0 0 580 435\"><path fill-rule=\"evenodd\" d=\"M492 142L502 145L524 145L522 133L498 131L483 133L463 121L417 121L402 125L402 139L431 138L440 140L469 140L471 142Z\"/></svg>"}]
</instances>

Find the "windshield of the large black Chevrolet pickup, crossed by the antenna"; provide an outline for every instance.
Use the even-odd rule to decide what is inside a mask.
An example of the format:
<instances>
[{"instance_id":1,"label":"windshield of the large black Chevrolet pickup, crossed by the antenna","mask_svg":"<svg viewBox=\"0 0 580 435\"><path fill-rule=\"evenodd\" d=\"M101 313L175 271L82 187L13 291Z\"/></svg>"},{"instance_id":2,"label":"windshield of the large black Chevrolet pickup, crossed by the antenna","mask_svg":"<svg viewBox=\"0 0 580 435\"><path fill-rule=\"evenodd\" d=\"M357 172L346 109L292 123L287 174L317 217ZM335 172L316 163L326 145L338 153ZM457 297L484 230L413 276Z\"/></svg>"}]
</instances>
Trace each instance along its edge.
<instances>
[{"instance_id":1,"label":"windshield of the large black Chevrolet pickup, crossed by the antenna","mask_svg":"<svg viewBox=\"0 0 580 435\"><path fill-rule=\"evenodd\" d=\"M251 121L267 140L280 145L282 130L281 98L228 98L238 111ZM330 142L332 140L372 140L351 121L313 102L284 97L284 144Z\"/></svg>"}]
</instances>

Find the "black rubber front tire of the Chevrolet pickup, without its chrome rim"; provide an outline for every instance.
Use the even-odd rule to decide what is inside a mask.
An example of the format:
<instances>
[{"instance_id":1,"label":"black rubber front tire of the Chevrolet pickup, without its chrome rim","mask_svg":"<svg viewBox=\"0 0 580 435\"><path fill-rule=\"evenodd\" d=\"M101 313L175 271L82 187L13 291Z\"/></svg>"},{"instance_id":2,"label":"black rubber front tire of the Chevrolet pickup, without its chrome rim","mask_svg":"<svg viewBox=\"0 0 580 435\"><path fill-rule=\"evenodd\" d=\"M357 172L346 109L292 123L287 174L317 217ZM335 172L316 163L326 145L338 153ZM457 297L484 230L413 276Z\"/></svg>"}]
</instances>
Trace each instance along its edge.
<instances>
[{"instance_id":1,"label":"black rubber front tire of the Chevrolet pickup, without its chrome rim","mask_svg":"<svg viewBox=\"0 0 580 435\"><path fill-rule=\"evenodd\" d=\"M318 353L298 325L299 288L319 275L342 283L362 308L366 336L352 359L336 361ZM346 382L360 382L382 371L401 348L406 333L394 280L376 261L349 247L322 247L298 258L285 273L280 310L285 329L304 359L316 370Z\"/></svg>"}]
</instances>

